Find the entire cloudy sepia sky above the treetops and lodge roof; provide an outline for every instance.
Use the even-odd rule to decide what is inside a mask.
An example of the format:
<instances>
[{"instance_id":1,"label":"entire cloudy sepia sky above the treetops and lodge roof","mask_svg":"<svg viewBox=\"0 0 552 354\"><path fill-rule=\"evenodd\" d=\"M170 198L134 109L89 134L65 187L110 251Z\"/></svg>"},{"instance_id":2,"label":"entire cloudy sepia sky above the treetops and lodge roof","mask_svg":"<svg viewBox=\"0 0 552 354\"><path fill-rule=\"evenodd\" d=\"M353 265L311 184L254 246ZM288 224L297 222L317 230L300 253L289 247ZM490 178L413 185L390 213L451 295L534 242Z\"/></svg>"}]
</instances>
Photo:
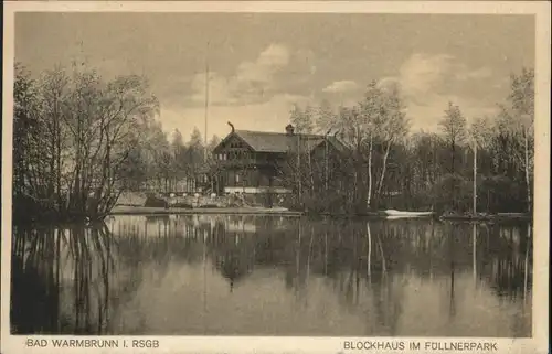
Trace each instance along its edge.
<instances>
[{"instance_id":1,"label":"entire cloudy sepia sky above the treetops and lodge roof","mask_svg":"<svg viewBox=\"0 0 552 354\"><path fill-rule=\"evenodd\" d=\"M534 67L534 18L505 14L18 13L15 61L33 73L74 61L104 77L145 75L171 133L284 131L294 104L352 105L372 81L400 83L413 131L448 101L496 111L509 75Z\"/></svg>"}]
</instances>

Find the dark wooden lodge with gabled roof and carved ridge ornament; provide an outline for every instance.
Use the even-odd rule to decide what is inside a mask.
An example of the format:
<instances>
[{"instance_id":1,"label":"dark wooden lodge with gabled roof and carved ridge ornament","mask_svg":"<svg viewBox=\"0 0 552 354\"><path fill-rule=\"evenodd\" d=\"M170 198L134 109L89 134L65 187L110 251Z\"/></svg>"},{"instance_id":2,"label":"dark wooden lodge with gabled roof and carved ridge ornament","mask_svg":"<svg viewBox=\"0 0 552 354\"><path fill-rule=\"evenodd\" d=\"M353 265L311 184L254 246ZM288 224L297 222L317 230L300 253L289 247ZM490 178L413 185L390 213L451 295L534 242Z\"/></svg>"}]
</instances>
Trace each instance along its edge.
<instances>
[{"instance_id":1,"label":"dark wooden lodge with gabled roof and carved ridge ornament","mask_svg":"<svg viewBox=\"0 0 552 354\"><path fill-rule=\"evenodd\" d=\"M335 159L348 148L335 136L296 133L288 125L284 132L232 131L213 150L211 171L217 194L282 194L294 189L294 174L309 163L322 167L328 178Z\"/></svg>"}]
</instances>

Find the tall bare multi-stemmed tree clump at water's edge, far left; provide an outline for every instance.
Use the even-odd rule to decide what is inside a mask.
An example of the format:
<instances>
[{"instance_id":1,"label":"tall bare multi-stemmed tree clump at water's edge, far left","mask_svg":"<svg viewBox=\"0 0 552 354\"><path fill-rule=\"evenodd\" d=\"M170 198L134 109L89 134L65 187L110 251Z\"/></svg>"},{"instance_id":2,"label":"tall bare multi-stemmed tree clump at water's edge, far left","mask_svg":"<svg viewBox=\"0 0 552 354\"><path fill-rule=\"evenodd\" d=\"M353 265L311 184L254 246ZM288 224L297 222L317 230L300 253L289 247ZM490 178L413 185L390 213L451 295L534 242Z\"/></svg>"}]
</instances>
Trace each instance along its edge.
<instances>
[{"instance_id":1,"label":"tall bare multi-stemmed tree clump at water's edge, far left","mask_svg":"<svg viewBox=\"0 0 552 354\"><path fill-rule=\"evenodd\" d=\"M15 108L26 112L18 110L14 119L14 169L24 171L15 190L57 216L102 217L120 194L124 164L140 141L140 127L157 114L157 99L141 77L106 83L76 67L29 83L17 76ZM29 124L32 133L23 129Z\"/></svg>"}]
</instances>

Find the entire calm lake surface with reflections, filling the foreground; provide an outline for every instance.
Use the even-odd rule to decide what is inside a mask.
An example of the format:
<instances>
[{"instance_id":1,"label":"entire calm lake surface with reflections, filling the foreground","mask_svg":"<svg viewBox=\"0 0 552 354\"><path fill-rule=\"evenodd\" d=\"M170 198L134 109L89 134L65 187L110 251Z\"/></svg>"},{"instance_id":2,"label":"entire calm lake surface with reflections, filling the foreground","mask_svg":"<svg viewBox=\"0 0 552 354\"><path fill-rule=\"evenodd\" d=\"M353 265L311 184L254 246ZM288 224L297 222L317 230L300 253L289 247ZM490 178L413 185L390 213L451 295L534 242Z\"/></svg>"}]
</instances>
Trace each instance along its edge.
<instances>
[{"instance_id":1,"label":"entire calm lake surface with reflections, filling the foreground","mask_svg":"<svg viewBox=\"0 0 552 354\"><path fill-rule=\"evenodd\" d=\"M17 228L12 333L531 336L529 224L115 216Z\"/></svg>"}]
</instances>

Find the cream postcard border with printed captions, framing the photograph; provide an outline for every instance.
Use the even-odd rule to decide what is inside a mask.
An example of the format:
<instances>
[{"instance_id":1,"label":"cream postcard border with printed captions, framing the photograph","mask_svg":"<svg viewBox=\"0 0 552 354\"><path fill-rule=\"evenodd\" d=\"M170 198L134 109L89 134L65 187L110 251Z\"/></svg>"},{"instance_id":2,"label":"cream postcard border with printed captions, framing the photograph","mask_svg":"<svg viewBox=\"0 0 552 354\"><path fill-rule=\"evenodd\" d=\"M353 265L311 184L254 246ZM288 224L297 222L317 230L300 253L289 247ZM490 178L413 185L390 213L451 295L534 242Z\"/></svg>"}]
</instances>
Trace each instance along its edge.
<instances>
[{"instance_id":1,"label":"cream postcard border with printed captions, framing the photograph","mask_svg":"<svg viewBox=\"0 0 552 354\"><path fill-rule=\"evenodd\" d=\"M481 14L533 14L535 15L535 168L534 168L534 261L533 261L533 337L532 339L455 339L455 337L261 337L261 336L79 336L85 340L115 339L119 351L135 353L136 348L123 348L123 341L157 340L159 347L140 352L158 353L396 353L396 351L346 350L346 341L379 341L405 343L401 352L434 353L425 350L425 342L480 342L496 343L498 353L538 353L549 351L549 186L550 186L550 3L501 1L7 1L3 15L3 119L2 119L2 258L1 258L1 346L2 353L57 353L68 350L25 347L29 336L10 335L10 249L11 249L11 163L12 163L12 83L14 53L14 12L18 11L113 11L113 12L340 12L340 13L481 13ZM32 339L76 339L73 336L31 336ZM420 342L420 350L408 345ZM75 351L75 348L72 348ZM116 350L78 348L83 353L118 352ZM455 353L446 351L446 353ZM464 352L466 353L466 352Z\"/></svg>"}]
</instances>

